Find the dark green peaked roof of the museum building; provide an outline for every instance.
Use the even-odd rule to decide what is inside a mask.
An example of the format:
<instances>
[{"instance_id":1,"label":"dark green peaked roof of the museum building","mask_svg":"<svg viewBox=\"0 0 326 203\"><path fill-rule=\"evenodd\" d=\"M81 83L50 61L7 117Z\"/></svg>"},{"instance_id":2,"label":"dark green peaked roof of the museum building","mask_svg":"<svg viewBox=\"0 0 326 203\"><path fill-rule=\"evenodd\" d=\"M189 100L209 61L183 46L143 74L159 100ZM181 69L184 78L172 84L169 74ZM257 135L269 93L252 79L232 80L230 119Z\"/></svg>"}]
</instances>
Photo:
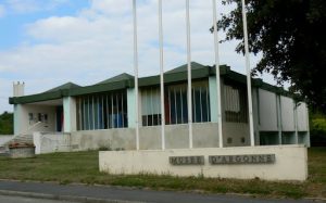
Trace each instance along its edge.
<instances>
[{"instance_id":1,"label":"dark green peaked roof of the museum building","mask_svg":"<svg viewBox=\"0 0 326 203\"><path fill-rule=\"evenodd\" d=\"M164 84L187 81L188 79L187 67L188 67L187 64L184 64L174 69L165 72ZM216 75L215 65L205 66L196 62L191 62L192 79L208 78L209 76L214 76L214 75ZM229 78L231 80L241 84L247 84L246 75L230 71L230 67L227 65L220 66L220 75L223 76L224 78ZM138 86L140 88L149 87L149 86L159 86L159 85L160 85L160 75L142 77L139 78L138 80ZM276 93L280 93L284 96L289 96L288 91L284 90L283 88L266 84L262 79L252 78L252 86L268 91L273 91ZM76 97L76 96L84 96L90 93L108 92L108 91L115 91L115 90L133 88L133 87L135 87L134 76L123 73L91 86L80 87L76 84L67 83L42 93L24 96L24 97L13 97L9 99L9 103L11 104L33 103L39 101L53 100L53 99L61 99L63 97Z\"/></svg>"}]
</instances>

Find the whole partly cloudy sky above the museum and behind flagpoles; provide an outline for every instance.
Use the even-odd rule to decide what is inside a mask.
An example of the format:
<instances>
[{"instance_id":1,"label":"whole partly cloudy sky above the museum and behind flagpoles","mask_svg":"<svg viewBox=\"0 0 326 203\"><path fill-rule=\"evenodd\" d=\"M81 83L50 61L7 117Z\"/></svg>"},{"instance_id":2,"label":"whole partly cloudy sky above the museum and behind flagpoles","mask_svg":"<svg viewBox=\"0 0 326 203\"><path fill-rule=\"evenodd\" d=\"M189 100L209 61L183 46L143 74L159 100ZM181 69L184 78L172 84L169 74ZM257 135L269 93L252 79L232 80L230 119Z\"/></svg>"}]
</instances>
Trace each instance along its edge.
<instances>
[{"instance_id":1,"label":"whole partly cloudy sky above the museum and behind flagpoles","mask_svg":"<svg viewBox=\"0 0 326 203\"><path fill-rule=\"evenodd\" d=\"M131 0L0 0L0 113L13 112L13 83L25 94L72 81L88 86L134 73ZM231 7L217 1L217 13ZM158 0L138 0L139 76L160 74ZM163 1L164 69L187 63L183 0ZM191 61L214 64L212 1L190 0ZM218 33L223 38L223 33ZM237 41L220 45L221 64L246 73ZM260 56L250 56L251 67ZM264 80L273 84L271 76ZM274 83L275 84L275 83Z\"/></svg>"}]
</instances>

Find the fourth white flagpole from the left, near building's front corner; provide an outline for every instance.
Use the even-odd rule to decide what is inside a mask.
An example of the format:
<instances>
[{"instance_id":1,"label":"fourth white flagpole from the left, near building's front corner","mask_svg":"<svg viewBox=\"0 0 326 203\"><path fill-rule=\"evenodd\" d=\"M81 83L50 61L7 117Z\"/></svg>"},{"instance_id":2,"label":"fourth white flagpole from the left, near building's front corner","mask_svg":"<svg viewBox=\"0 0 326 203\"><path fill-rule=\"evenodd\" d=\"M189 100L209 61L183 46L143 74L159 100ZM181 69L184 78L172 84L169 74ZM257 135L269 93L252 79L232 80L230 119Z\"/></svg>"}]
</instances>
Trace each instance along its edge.
<instances>
[{"instance_id":1,"label":"fourth white flagpole from the left, near building's front corner","mask_svg":"<svg viewBox=\"0 0 326 203\"><path fill-rule=\"evenodd\" d=\"M221 79L220 79L220 53L218 53L218 35L217 35L217 17L216 17L216 0L212 0L213 4L213 25L214 25L214 51L215 51L215 71L216 71L216 97L217 97L217 122L218 122L218 147L223 148L222 131L222 105L221 105Z\"/></svg>"}]
</instances>

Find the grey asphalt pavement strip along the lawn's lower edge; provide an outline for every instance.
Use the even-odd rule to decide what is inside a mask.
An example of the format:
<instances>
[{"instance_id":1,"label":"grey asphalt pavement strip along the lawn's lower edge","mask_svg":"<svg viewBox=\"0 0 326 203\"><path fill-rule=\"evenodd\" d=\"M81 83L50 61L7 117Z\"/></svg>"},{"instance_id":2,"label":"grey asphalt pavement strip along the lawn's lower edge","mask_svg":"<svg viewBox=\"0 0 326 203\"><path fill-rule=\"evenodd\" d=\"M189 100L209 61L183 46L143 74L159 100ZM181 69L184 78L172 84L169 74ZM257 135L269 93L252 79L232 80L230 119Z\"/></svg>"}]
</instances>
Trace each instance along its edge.
<instances>
[{"instance_id":1,"label":"grey asphalt pavement strip along the lawn's lower edge","mask_svg":"<svg viewBox=\"0 0 326 203\"><path fill-rule=\"evenodd\" d=\"M155 202L155 203L312 203L312 200L263 200L240 195L199 194L139 190L122 187L58 185L0 180L0 194L73 202ZM322 202L322 201L321 201Z\"/></svg>"}]
</instances>

